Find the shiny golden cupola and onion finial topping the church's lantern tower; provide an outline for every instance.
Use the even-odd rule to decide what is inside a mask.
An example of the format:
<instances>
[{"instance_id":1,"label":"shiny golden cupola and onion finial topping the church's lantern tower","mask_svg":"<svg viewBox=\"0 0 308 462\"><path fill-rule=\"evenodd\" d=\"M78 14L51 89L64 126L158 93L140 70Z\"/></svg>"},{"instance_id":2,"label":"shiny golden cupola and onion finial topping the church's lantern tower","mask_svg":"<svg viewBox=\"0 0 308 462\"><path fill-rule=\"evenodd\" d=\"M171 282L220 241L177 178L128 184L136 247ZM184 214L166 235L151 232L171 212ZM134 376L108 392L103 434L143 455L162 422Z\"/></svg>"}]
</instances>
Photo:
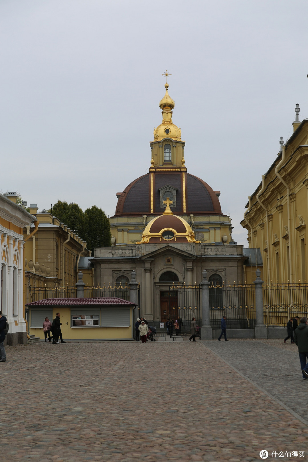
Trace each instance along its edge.
<instances>
[{"instance_id":1,"label":"shiny golden cupola and onion finial topping the church's lantern tower","mask_svg":"<svg viewBox=\"0 0 308 462\"><path fill-rule=\"evenodd\" d=\"M178 128L172 122L172 109L175 107L175 102L168 93L169 84L165 84L166 93L163 99L160 100L159 106L162 109L163 122L154 129L154 141L160 141L164 138L181 141L181 128Z\"/></svg>"}]
</instances>

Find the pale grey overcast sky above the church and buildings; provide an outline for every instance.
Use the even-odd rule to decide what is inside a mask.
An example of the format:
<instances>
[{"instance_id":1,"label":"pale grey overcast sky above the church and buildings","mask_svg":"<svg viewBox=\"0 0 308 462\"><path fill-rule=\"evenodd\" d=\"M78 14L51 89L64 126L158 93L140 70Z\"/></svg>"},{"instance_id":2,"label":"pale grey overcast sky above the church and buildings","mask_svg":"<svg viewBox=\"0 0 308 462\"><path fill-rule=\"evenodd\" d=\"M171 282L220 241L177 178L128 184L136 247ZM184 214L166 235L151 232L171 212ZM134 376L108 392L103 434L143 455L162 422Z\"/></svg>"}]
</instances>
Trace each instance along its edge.
<instances>
[{"instance_id":1,"label":"pale grey overcast sky above the church and buildings","mask_svg":"<svg viewBox=\"0 0 308 462\"><path fill-rule=\"evenodd\" d=\"M1 0L0 190L114 215L147 173L165 69L189 173L244 207L308 117L308 2Z\"/></svg>"}]
</instances>

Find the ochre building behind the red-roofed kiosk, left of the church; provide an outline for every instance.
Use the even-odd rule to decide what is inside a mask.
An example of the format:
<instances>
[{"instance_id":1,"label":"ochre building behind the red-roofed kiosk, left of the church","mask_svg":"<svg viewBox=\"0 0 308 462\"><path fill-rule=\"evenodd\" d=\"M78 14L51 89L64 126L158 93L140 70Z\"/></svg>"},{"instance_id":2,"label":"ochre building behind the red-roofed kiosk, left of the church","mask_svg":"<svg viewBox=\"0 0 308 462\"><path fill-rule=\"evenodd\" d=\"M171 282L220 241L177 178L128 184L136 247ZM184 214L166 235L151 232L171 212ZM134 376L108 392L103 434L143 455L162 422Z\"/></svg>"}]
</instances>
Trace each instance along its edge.
<instances>
[{"instance_id":1,"label":"ochre building behind the red-roofed kiosk, left of the church","mask_svg":"<svg viewBox=\"0 0 308 462\"><path fill-rule=\"evenodd\" d=\"M86 242L51 213L38 213L36 204L30 204L30 213L39 224L33 234L34 225L24 229L25 238L32 234L24 248L26 302L33 301L30 292L33 287L74 286L81 258L84 281L92 285L92 269L85 267L84 262L91 255Z\"/></svg>"}]
</instances>

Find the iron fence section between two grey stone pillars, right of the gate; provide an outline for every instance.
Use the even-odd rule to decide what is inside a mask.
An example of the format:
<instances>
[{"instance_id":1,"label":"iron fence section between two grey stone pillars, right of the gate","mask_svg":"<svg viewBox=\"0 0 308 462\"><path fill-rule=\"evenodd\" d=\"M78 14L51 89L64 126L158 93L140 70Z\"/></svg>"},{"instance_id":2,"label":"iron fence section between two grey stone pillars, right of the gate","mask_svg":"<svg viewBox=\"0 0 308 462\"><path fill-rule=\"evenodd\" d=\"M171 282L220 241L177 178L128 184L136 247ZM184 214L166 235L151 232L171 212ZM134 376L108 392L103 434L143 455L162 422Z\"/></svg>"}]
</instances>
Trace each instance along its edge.
<instances>
[{"instance_id":1,"label":"iron fence section between two grey stone pillars, right of the gate","mask_svg":"<svg viewBox=\"0 0 308 462\"><path fill-rule=\"evenodd\" d=\"M210 322L214 329L220 329L220 321L227 317L228 329L254 328L255 286L254 284L209 286Z\"/></svg>"}]
</instances>

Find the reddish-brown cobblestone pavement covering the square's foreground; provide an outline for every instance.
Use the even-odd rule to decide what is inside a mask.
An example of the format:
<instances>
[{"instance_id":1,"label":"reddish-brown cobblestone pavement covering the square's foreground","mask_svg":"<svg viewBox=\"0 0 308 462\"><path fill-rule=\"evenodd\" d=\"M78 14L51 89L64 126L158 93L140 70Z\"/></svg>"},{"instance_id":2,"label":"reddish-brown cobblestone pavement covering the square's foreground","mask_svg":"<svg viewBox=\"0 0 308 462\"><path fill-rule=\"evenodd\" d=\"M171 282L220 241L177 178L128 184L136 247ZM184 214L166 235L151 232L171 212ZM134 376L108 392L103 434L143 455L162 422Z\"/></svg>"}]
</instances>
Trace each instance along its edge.
<instances>
[{"instance_id":1,"label":"reddish-brown cobblestone pavement covering the square's foreground","mask_svg":"<svg viewBox=\"0 0 308 462\"><path fill-rule=\"evenodd\" d=\"M259 374L272 358L292 375L295 363L293 400L308 385L297 380L293 346L185 340L7 347L1 461L246 462L260 461L263 449L305 451L307 458L307 425L234 369L248 359L245 373ZM266 383L278 393L283 378L267 370Z\"/></svg>"}]
</instances>

